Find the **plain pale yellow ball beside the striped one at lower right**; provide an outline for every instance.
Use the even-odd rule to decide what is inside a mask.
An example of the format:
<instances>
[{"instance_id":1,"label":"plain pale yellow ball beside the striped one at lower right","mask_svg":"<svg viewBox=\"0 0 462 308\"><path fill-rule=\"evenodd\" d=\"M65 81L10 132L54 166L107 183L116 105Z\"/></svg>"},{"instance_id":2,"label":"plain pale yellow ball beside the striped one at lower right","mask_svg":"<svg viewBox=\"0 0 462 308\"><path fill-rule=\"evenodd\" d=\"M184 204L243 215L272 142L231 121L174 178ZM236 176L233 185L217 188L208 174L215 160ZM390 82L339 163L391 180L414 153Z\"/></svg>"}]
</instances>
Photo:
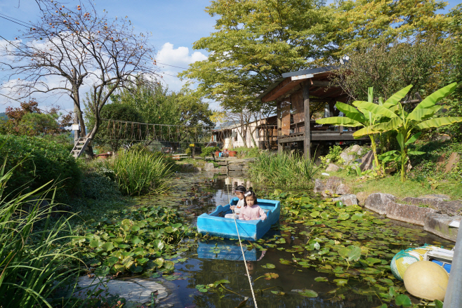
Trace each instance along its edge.
<instances>
[{"instance_id":1,"label":"plain pale yellow ball beside the striped one at lower right","mask_svg":"<svg viewBox=\"0 0 462 308\"><path fill-rule=\"evenodd\" d=\"M425 300L444 300L449 275L430 261L418 261L409 265L404 272L404 286L407 292Z\"/></svg>"}]
</instances>

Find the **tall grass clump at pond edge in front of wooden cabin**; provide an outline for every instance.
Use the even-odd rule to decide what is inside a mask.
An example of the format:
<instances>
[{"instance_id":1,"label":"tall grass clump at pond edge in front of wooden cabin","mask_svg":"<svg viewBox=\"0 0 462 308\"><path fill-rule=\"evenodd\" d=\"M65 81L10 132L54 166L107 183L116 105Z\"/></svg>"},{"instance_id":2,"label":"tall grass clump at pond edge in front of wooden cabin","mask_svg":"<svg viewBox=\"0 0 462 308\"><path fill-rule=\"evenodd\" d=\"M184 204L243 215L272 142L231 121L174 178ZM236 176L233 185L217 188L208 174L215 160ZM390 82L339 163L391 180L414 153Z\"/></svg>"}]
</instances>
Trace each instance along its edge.
<instances>
[{"instance_id":1,"label":"tall grass clump at pond edge in front of wooden cabin","mask_svg":"<svg viewBox=\"0 0 462 308\"><path fill-rule=\"evenodd\" d=\"M313 178L319 170L314 159L285 152L260 154L249 166L252 180L292 189L312 187Z\"/></svg>"}]
</instances>

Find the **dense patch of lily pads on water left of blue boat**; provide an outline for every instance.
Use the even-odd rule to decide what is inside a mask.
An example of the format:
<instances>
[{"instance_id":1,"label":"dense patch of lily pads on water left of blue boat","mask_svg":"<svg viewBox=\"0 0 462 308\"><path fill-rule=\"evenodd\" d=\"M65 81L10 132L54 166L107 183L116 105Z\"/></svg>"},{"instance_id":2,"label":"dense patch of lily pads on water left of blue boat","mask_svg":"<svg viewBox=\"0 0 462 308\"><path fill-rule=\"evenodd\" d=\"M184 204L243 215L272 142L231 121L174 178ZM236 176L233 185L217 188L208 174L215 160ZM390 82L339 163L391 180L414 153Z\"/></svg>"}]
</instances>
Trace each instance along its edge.
<instances>
[{"instance_id":1,"label":"dense patch of lily pads on water left of blue boat","mask_svg":"<svg viewBox=\"0 0 462 308\"><path fill-rule=\"evenodd\" d=\"M118 216L117 220L100 218L92 225L95 232L72 240L74 246L84 248L85 262L103 275L173 271L174 263L163 257L177 250L190 230L176 209L147 206L121 210Z\"/></svg>"}]
</instances>

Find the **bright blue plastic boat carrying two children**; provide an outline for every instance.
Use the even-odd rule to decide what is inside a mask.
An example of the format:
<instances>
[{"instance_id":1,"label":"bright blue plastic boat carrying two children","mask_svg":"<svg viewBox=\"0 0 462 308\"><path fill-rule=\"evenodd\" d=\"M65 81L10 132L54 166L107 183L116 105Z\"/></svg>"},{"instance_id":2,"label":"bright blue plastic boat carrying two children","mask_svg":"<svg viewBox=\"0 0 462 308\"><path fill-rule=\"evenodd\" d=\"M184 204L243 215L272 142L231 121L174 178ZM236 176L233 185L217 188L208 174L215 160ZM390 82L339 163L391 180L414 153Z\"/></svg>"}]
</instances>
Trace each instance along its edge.
<instances>
[{"instance_id":1,"label":"bright blue plastic boat carrying two children","mask_svg":"<svg viewBox=\"0 0 462 308\"><path fill-rule=\"evenodd\" d=\"M210 214L202 214L197 217L197 231L202 234L221 236L227 239L237 239L235 220L225 218L225 214L232 213L230 206L235 206L239 199L231 199L231 203L226 206L217 206ZM281 203L275 200L257 199L258 206L265 210L267 218L265 220L236 220L237 229L241 239L256 241L279 220L281 213Z\"/></svg>"}]
</instances>

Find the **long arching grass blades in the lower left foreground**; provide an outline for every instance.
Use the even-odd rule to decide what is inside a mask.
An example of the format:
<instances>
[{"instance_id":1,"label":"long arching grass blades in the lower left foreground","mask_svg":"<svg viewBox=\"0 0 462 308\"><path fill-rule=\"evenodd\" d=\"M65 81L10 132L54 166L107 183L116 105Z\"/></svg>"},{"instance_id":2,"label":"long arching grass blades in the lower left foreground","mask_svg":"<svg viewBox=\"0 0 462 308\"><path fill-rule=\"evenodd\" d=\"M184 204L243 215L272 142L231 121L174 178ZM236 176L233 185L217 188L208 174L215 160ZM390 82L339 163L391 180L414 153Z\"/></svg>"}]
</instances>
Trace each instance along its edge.
<instances>
[{"instance_id":1,"label":"long arching grass blades in the lower left foreground","mask_svg":"<svg viewBox=\"0 0 462 308\"><path fill-rule=\"evenodd\" d=\"M47 192L34 196L46 185L9 201L2 198L13 174L5 173L5 166L6 159L0 168L0 307L52 307L48 299L75 281L79 269L74 248L62 246L72 236L69 218L51 222L53 201L42 207ZM27 201L31 198L35 201Z\"/></svg>"}]
</instances>

